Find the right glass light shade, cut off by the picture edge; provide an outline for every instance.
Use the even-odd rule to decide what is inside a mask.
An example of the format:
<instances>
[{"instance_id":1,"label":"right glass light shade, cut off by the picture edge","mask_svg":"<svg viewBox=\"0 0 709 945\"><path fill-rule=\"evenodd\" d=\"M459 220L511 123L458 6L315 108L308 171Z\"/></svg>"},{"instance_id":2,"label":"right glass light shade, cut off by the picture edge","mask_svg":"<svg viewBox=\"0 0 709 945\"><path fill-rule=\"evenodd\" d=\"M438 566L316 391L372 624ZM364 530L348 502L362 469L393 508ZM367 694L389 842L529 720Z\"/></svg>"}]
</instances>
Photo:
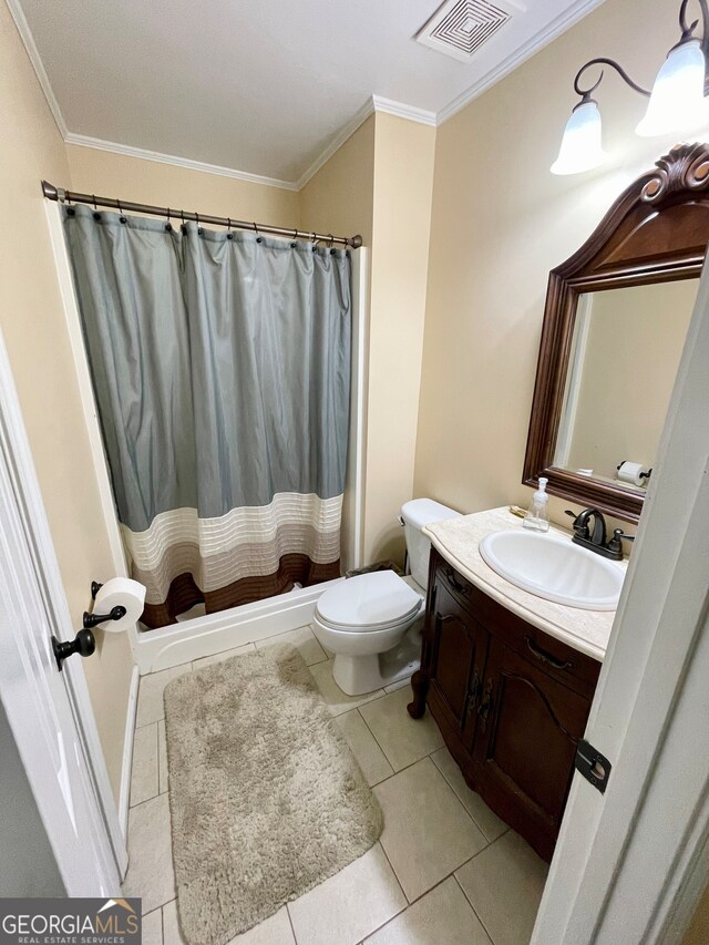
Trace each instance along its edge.
<instances>
[{"instance_id":1,"label":"right glass light shade, cut off by the picture edge","mask_svg":"<svg viewBox=\"0 0 709 945\"><path fill-rule=\"evenodd\" d=\"M657 73L647 113L636 129L637 134L654 137L709 124L705 69L699 40L675 47Z\"/></svg>"}]
</instances>

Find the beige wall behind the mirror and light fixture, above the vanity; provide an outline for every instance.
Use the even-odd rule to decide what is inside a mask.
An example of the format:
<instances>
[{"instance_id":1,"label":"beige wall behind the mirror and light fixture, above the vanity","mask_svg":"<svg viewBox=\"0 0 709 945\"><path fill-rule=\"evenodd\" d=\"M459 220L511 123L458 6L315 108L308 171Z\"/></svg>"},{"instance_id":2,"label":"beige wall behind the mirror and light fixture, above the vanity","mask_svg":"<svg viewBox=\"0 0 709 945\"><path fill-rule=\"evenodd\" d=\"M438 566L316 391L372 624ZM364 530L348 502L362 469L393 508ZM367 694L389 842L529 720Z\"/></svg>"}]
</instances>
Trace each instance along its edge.
<instances>
[{"instance_id":1,"label":"beige wall behind the mirror and light fixture, above the vanity","mask_svg":"<svg viewBox=\"0 0 709 945\"><path fill-rule=\"evenodd\" d=\"M608 71L597 97L609 170L548 168L586 60L615 57L651 83L677 10L646 14L646 0L606 0L438 130L417 495L464 512L530 501L522 465L548 271L674 141L635 135L645 102ZM553 500L553 517L567 522L567 504Z\"/></svg>"}]
</instances>

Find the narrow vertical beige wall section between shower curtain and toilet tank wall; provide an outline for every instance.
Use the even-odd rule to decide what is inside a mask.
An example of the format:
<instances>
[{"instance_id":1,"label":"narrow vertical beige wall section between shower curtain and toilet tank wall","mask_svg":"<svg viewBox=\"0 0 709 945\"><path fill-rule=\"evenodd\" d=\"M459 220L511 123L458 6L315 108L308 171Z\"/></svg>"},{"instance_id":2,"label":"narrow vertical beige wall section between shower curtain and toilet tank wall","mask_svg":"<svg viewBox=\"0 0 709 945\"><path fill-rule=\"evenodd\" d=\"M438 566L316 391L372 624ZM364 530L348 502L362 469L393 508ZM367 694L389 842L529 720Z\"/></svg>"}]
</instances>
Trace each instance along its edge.
<instances>
[{"instance_id":1,"label":"narrow vertical beige wall section between shower curtain and toilet tank wall","mask_svg":"<svg viewBox=\"0 0 709 945\"><path fill-rule=\"evenodd\" d=\"M403 558L413 496L435 129L377 114L364 559Z\"/></svg>"}]
</instances>

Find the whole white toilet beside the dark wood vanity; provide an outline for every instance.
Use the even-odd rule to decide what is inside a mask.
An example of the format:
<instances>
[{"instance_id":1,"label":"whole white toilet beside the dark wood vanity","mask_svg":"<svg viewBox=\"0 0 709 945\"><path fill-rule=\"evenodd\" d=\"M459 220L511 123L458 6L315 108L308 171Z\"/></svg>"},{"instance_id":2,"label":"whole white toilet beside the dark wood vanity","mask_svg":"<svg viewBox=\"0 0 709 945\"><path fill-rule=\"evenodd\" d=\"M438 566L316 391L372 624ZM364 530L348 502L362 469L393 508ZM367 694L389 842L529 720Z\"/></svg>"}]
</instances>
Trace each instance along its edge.
<instances>
[{"instance_id":1,"label":"whole white toilet beside the dark wood vanity","mask_svg":"<svg viewBox=\"0 0 709 945\"><path fill-rule=\"evenodd\" d=\"M335 654L332 676L348 696L372 692L419 668L431 543L424 525L460 513L431 499L401 509L411 574L376 571L342 581L319 598L312 630Z\"/></svg>"}]
</instances>

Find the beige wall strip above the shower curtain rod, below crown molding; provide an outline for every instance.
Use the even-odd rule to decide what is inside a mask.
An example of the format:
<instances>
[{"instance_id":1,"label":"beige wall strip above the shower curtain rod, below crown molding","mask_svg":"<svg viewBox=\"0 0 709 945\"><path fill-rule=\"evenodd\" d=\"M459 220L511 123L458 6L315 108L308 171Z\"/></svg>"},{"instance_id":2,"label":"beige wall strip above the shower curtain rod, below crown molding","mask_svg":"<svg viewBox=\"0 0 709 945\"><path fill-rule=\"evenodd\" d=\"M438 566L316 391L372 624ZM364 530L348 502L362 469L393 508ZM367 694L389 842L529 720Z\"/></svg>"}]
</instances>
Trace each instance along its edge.
<instances>
[{"instance_id":1,"label":"beige wall strip above the shower curtain rod, below crown molding","mask_svg":"<svg viewBox=\"0 0 709 945\"><path fill-rule=\"evenodd\" d=\"M300 223L296 191L75 144L66 145L66 157L80 193L285 227ZM61 181L52 183L61 186Z\"/></svg>"}]
</instances>

